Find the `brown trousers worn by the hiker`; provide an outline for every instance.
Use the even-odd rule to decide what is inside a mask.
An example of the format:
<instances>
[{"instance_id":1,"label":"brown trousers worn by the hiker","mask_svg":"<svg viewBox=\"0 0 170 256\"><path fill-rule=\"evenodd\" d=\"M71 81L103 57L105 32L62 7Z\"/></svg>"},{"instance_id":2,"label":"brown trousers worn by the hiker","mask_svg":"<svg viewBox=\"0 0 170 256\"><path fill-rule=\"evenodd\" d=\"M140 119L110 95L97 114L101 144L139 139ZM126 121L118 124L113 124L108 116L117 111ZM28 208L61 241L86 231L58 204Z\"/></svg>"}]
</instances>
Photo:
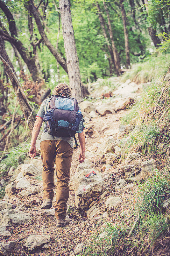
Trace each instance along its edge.
<instances>
[{"instance_id":1,"label":"brown trousers worn by the hiker","mask_svg":"<svg viewBox=\"0 0 170 256\"><path fill-rule=\"evenodd\" d=\"M69 197L68 181L73 148L64 140L44 140L40 143L41 159L43 163L43 187L44 199L53 200L54 192L54 159L56 163L57 190L55 216L56 219L64 219Z\"/></svg>"}]
</instances>

